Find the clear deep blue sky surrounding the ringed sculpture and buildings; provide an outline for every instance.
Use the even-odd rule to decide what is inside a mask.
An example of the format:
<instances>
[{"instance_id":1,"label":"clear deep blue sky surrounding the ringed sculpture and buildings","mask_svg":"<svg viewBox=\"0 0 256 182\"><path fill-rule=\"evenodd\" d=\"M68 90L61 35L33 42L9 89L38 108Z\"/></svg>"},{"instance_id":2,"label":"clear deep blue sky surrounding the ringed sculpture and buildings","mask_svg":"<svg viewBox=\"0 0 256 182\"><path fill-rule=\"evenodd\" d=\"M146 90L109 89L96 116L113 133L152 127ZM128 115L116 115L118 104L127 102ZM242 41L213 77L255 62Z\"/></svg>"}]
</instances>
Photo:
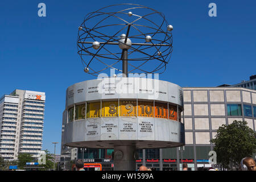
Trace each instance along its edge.
<instances>
[{"instance_id":1,"label":"clear deep blue sky surrounding the ringed sculpture and buildings","mask_svg":"<svg viewBox=\"0 0 256 182\"><path fill-rule=\"evenodd\" d=\"M46 4L46 17L38 4ZM217 17L208 15L216 3ZM43 150L61 142L65 90L96 77L83 72L77 32L84 16L117 3L137 3L162 12L174 26L173 52L160 80L180 86L217 86L249 80L256 68L256 2L6 1L0 2L0 96L14 89L46 92ZM60 153L60 144L56 154Z\"/></svg>"}]
</instances>

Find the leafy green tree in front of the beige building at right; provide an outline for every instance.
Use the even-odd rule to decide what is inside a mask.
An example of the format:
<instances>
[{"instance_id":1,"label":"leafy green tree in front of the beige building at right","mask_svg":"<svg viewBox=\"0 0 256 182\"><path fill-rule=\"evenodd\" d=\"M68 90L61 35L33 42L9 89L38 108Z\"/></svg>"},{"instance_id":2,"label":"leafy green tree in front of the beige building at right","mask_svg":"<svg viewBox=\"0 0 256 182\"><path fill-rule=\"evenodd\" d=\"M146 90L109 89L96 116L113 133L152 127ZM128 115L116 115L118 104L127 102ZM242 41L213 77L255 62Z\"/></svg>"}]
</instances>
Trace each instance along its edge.
<instances>
[{"instance_id":1,"label":"leafy green tree in front of the beige building at right","mask_svg":"<svg viewBox=\"0 0 256 182\"><path fill-rule=\"evenodd\" d=\"M242 158L251 156L256 151L256 133L247 126L246 121L234 121L222 125L217 130L215 139L210 140L217 153L217 162L224 168L229 164L239 166Z\"/></svg>"}]
</instances>

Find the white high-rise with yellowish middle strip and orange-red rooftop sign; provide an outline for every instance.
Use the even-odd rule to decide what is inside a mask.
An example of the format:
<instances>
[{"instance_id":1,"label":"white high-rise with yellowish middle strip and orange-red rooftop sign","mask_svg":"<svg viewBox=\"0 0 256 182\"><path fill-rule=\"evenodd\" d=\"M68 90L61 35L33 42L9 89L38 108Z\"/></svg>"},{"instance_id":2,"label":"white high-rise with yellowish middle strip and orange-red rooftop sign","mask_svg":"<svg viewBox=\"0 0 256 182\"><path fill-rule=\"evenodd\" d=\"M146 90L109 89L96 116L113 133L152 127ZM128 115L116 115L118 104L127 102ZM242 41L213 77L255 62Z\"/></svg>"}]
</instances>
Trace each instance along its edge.
<instances>
[{"instance_id":1,"label":"white high-rise with yellowish middle strip and orange-red rooftop sign","mask_svg":"<svg viewBox=\"0 0 256 182\"><path fill-rule=\"evenodd\" d=\"M44 92L14 90L0 98L0 155L18 159L19 153L40 156L43 140Z\"/></svg>"}]
</instances>

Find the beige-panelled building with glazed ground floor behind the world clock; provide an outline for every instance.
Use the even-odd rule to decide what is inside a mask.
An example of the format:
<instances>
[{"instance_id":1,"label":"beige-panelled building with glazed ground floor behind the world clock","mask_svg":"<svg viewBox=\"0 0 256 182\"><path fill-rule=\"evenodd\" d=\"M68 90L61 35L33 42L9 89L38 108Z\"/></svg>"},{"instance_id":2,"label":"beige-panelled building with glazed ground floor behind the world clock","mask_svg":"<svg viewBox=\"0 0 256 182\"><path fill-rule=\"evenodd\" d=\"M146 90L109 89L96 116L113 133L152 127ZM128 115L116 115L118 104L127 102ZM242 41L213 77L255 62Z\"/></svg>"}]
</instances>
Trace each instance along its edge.
<instances>
[{"instance_id":1,"label":"beige-panelled building with glazed ground floor behind the world clock","mask_svg":"<svg viewBox=\"0 0 256 182\"><path fill-rule=\"evenodd\" d=\"M137 168L146 166L156 170L181 170L182 163L187 163L189 170L212 167L209 151L214 150L210 143L221 125L229 125L234 120L247 121L255 131L256 91L241 87L183 88L184 111L181 122L185 125L185 146L175 148L140 149ZM101 152L100 152L101 150ZM105 170L113 169L112 160L107 150L78 148L76 159L92 159L102 162ZM84 154L82 154L84 152ZM110 153L110 152L109 152ZM255 159L255 154L253 155ZM100 160L99 160L100 159ZM109 165L106 165L109 164ZM110 168L109 168L110 166Z\"/></svg>"}]
</instances>

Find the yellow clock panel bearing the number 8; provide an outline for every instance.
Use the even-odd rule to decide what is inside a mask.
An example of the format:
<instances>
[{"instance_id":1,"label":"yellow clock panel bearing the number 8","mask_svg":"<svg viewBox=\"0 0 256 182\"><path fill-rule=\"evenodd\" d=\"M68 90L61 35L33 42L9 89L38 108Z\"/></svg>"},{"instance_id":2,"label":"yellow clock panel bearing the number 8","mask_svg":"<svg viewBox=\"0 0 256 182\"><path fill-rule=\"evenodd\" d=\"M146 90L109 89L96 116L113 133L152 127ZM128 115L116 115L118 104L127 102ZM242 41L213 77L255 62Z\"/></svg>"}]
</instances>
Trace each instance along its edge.
<instances>
[{"instance_id":1,"label":"yellow clock panel bearing the number 8","mask_svg":"<svg viewBox=\"0 0 256 182\"><path fill-rule=\"evenodd\" d=\"M118 115L118 101L102 102L102 117L114 117Z\"/></svg>"}]
</instances>

